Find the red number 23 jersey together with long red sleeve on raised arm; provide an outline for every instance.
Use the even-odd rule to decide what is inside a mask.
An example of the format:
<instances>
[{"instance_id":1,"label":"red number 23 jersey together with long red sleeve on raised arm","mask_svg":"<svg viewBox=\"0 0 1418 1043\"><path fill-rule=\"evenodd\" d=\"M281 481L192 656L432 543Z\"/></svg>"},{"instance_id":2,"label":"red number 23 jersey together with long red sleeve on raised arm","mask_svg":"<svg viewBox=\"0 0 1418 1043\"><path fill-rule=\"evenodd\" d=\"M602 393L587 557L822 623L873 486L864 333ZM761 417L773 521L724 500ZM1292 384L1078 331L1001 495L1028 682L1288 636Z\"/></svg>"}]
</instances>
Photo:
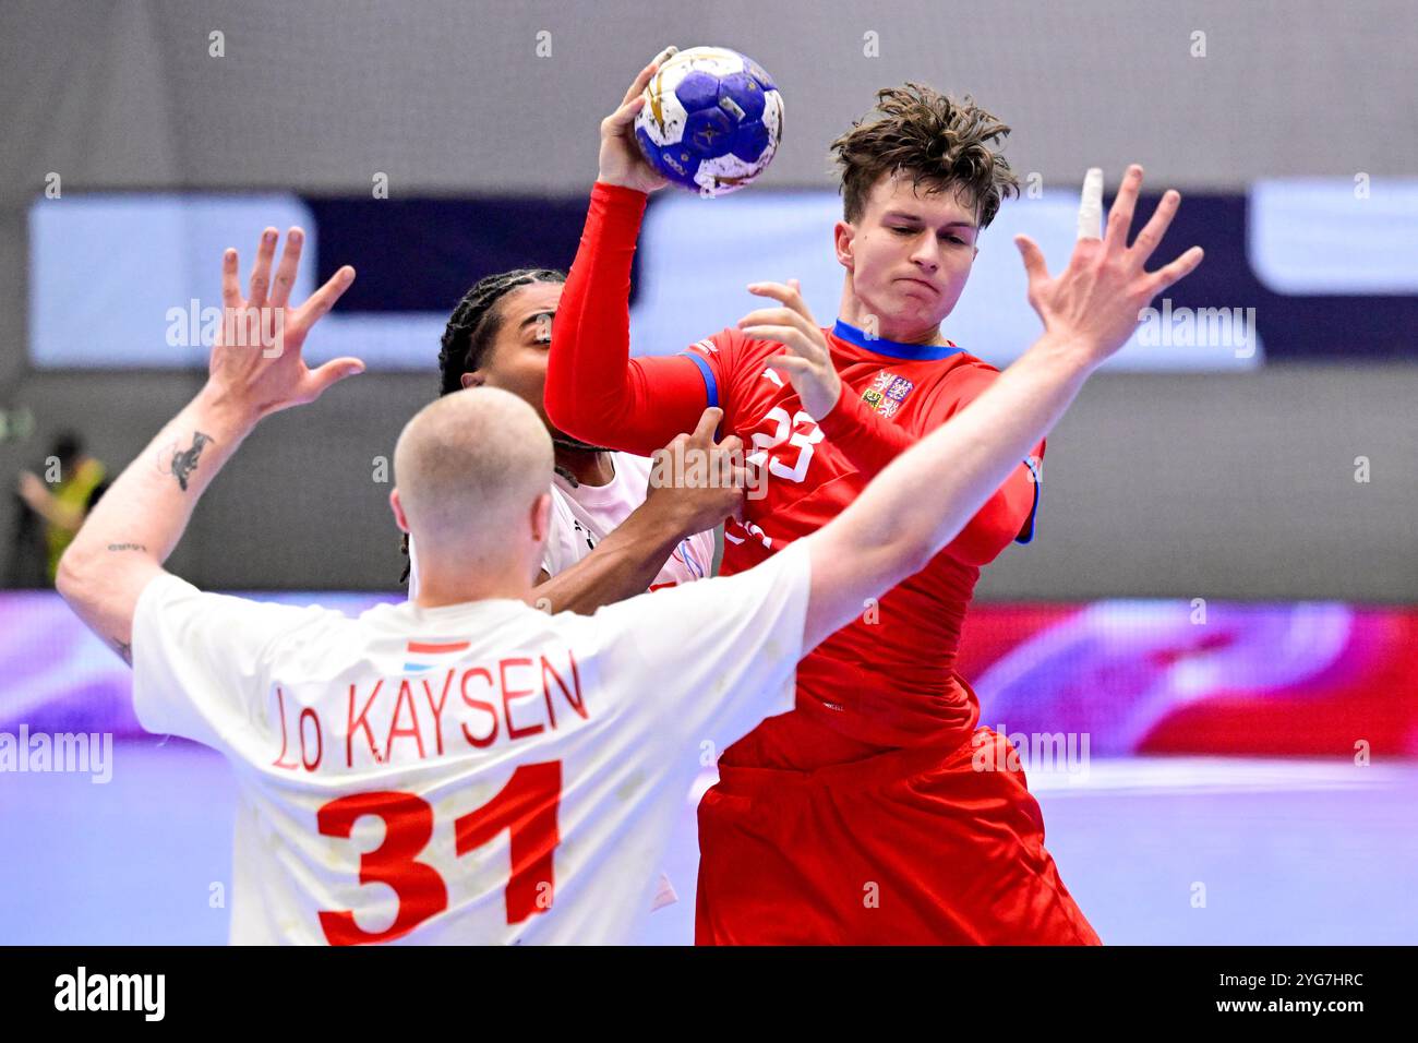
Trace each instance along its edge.
<instances>
[{"instance_id":1,"label":"red number 23 jersey together with long red sleeve on raised arm","mask_svg":"<svg viewBox=\"0 0 1418 1043\"><path fill-rule=\"evenodd\" d=\"M672 358L630 358L630 263L645 194L597 183L586 233L553 321L546 407L569 434L648 454L692 430L706 406L725 410L760 465L744 524L725 531L723 573L749 569L817 531L895 456L939 427L998 375L956 345L868 338L838 321L824 329L842 397L821 421L803 410L769 359L781 343L723 329ZM723 763L813 769L885 749L966 742L980 718L954 675L966 607L1014 539L1028 542L1044 443L930 565L798 666L797 710L764 721Z\"/></svg>"}]
</instances>

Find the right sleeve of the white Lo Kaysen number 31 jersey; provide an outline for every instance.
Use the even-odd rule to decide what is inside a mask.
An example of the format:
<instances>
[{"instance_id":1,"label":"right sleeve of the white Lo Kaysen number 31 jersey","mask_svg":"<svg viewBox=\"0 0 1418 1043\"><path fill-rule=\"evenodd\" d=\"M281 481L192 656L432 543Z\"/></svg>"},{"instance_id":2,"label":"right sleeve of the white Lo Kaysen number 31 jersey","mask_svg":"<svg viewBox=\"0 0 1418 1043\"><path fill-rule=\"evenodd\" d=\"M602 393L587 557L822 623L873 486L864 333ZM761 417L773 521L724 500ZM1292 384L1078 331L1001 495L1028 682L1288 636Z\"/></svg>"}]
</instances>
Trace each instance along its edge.
<instances>
[{"instance_id":1,"label":"right sleeve of the white Lo Kaysen number 31 jersey","mask_svg":"<svg viewBox=\"0 0 1418 1043\"><path fill-rule=\"evenodd\" d=\"M810 580L798 541L747 572L608 605L594 616L601 684L718 755L793 710Z\"/></svg>"}]
</instances>

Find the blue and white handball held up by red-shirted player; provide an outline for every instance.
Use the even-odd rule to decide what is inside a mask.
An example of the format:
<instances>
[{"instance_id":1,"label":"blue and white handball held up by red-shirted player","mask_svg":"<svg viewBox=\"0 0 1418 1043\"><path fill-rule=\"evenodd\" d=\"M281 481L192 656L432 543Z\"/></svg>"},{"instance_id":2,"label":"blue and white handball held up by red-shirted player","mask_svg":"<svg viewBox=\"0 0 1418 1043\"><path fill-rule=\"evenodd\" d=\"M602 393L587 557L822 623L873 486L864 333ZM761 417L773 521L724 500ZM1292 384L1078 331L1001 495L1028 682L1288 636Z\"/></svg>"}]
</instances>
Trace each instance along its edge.
<instances>
[{"instance_id":1,"label":"blue and white handball held up by red-shirted player","mask_svg":"<svg viewBox=\"0 0 1418 1043\"><path fill-rule=\"evenodd\" d=\"M671 184L726 196L773 160L783 140L783 95L753 58L691 47L671 55L645 87L635 140Z\"/></svg>"}]
</instances>

